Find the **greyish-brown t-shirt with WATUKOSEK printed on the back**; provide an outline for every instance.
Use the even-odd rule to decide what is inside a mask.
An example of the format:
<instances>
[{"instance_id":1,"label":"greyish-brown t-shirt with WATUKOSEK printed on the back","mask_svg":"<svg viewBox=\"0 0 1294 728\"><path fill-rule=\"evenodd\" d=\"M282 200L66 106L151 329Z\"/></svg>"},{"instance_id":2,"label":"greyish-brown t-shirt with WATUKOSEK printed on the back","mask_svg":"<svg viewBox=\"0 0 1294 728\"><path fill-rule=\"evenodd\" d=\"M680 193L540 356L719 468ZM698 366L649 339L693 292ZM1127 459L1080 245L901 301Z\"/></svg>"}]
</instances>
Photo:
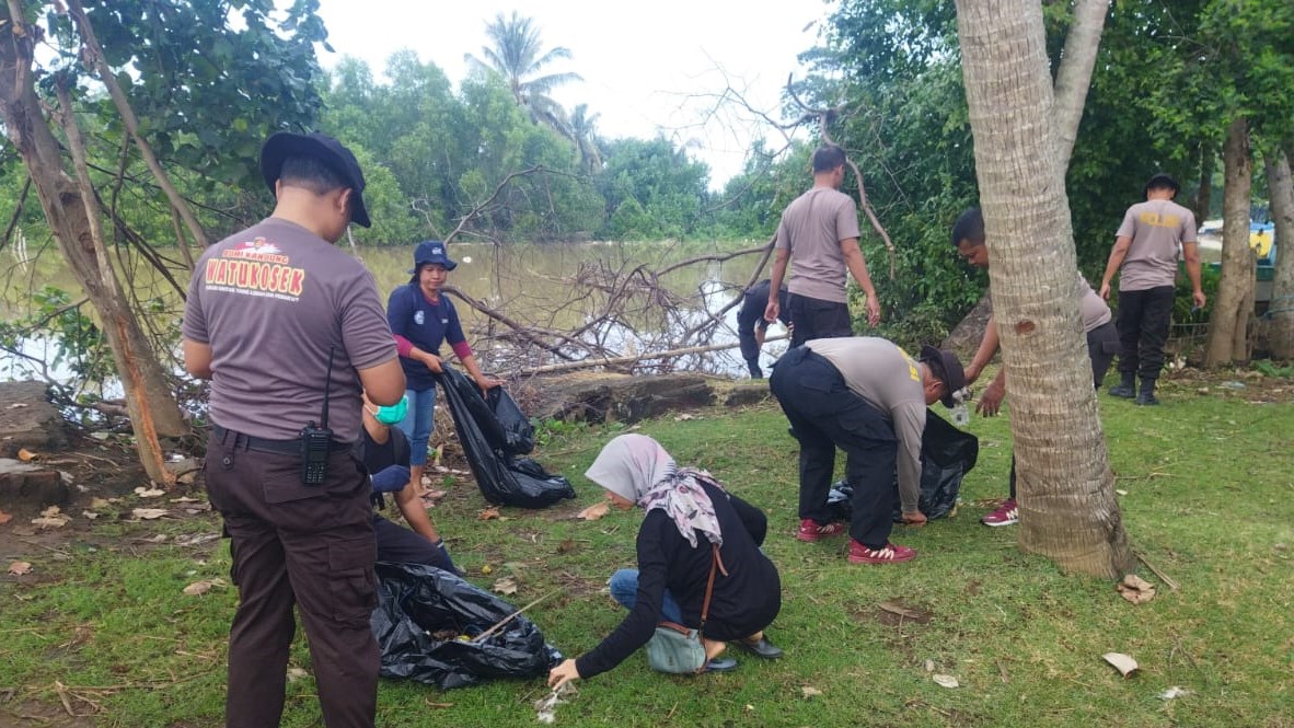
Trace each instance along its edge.
<instances>
[{"instance_id":1,"label":"greyish-brown t-shirt with WATUKOSEK printed on the back","mask_svg":"<svg viewBox=\"0 0 1294 728\"><path fill-rule=\"evenodd\" d=\"M360 437L357 369L396 356L377 283L360 261L309 230L267 219L198 260L184 336L211 347L211 420L254 437L292 440L320 422Z\"/></svg>"}]
</instances>

